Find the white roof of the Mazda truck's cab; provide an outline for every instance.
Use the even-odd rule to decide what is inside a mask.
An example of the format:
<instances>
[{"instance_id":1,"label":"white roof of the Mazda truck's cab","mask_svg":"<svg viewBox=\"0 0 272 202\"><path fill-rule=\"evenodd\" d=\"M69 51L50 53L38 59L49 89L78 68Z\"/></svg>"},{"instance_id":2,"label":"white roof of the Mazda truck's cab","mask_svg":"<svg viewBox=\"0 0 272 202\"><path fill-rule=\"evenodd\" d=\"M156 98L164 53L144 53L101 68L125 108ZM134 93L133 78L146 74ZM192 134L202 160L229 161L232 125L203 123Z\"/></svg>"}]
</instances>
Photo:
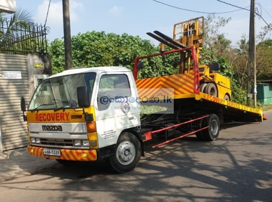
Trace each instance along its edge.
<instances>
[{"instance_id":1,"label":"white roof of the Mazda truck's cab","mask_svg":"<svg viewBox=\"0 0 272 202\"><path fill-rule=\"evenodd\" d=\"M95 72L95 73L103 73L103 72L131 72L131 70L125 67L79 67L73 68L69 70L65 70L61 73L54 74L49 78L58 77L58 76L66 76L72 74L79 74L79 73L87 73L87 72Z\"/></svg>"}]
</instances>

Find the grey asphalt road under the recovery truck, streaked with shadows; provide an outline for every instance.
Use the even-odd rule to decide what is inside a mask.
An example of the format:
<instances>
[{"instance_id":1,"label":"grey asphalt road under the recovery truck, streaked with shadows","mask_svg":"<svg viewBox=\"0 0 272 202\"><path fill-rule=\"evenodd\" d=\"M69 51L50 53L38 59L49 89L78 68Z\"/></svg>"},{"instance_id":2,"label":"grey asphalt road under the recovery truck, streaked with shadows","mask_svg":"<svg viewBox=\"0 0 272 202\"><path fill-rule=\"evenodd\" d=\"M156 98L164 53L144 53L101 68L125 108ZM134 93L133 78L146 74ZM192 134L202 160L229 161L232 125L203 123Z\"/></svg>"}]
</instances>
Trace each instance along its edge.
<instances>
[{"instance_id":1,"label":"grey asphalt road under the recovery truck, streaked with shadows","mask_svg":"<svg viewBox=\"0 0 272 202\"><path fill-rule=\"evenodd\" d=\"M228 126L214 142L192 136L149 149L125 174L104 163L53 164L1 183L0 200L272 201L272 111L266 116L263 123Z\"/></svg>"}]
</instances>

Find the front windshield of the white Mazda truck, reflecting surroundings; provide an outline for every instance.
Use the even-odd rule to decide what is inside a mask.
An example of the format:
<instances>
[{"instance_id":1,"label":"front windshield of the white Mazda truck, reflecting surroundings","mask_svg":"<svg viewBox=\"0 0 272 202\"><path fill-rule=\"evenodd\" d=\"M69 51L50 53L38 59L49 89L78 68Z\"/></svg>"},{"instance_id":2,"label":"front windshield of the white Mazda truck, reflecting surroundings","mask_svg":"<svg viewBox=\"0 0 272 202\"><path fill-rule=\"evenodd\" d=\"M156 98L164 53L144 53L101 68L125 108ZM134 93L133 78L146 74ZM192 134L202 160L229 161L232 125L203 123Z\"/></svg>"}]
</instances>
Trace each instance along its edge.
<instances>
[{"instance_id":1,"label":"front windshield of the white Mazda truck, reflecting surroundings","mask_svg":"<svg viewBox=\"0 0 272 202\"><path fill-rule=\"evenodd\" d=\"M95 73L73 74L43 80L34 92L28 110L51 110L70 108L69 100L75 100L78 107L77 88L87 86L91 100Z\"/></svg>"}]
</instances>

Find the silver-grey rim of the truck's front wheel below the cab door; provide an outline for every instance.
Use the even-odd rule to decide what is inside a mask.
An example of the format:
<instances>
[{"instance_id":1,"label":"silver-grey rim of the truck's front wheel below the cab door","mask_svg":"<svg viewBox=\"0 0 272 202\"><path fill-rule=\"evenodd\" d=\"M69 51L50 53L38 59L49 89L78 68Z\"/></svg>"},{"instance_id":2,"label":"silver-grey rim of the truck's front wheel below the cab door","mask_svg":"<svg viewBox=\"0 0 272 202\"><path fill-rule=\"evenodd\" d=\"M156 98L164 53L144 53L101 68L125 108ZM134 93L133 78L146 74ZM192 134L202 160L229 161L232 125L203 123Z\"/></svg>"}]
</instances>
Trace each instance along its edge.
<instances>
[{"instance_id":1,"label":"silver-grey rim of the truck's front wheel below the cab door","mask_svg":"<svg viewBox=\"0 0 272 202\"><path fill-rule=\"evenodd\" d=\"M116 149L116 157L120 164L130 164L135 158L134 144L130 141L122 141Z\"/></svg>"}]
</instances>

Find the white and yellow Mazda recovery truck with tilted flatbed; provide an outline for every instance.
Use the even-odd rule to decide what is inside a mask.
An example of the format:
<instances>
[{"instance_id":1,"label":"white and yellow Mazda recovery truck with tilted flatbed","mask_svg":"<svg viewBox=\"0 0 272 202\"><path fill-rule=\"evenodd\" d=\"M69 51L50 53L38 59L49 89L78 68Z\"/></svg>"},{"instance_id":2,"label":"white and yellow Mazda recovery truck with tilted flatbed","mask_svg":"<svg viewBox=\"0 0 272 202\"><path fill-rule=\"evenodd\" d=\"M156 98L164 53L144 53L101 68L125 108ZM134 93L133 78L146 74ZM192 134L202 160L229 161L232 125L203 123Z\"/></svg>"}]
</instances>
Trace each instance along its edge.
<instances>
[{"instance_id":1,"label":"white and yellow Mazda recovery truck with tilted flatbed","mask_svg":"<svg viewBox=\"0 0 272 202\"><path fill-rule=\"evenodd\" d=\"M194 53L193 48L174 52L184 51ZM198 64L193 62L192 74L185 75L192 81L184 85L178 84L183 79L179 74L135 82L124 67L75 68L44 79L26 115L21 99L29 154L62 164L106 159L117 172L127 172L144 156L144 142L155 136L164 140L153 147L194 134L211 141L218 138L224 122L263 120L261 110L200 92ZM148 82L149 89L139 88ZM141 117L145 91L152 94L146 96L149 103L169 104L166 111Z\"/></svg>"}]
</instances>

